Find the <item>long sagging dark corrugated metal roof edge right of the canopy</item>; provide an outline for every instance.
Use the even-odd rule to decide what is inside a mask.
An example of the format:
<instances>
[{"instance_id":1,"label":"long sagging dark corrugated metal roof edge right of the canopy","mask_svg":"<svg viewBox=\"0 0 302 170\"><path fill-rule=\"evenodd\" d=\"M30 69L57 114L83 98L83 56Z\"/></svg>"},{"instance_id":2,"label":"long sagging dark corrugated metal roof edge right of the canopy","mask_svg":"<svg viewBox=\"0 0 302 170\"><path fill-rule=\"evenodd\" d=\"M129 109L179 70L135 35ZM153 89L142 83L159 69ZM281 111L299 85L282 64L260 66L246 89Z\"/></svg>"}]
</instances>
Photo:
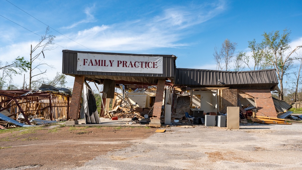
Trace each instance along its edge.
<instances>
[{"instance_id":1,"label":"long sagging dark corrugated metal roof edge right of the canopy","mask_svg":"<svg viewBox=\"0 0 302 170\"><path fill-rule=\"evenodd\" d=\"M178 86L271 88L277 84L275 69L236 72L176 68L175 85Z\"/></svg>"}]
</instances>

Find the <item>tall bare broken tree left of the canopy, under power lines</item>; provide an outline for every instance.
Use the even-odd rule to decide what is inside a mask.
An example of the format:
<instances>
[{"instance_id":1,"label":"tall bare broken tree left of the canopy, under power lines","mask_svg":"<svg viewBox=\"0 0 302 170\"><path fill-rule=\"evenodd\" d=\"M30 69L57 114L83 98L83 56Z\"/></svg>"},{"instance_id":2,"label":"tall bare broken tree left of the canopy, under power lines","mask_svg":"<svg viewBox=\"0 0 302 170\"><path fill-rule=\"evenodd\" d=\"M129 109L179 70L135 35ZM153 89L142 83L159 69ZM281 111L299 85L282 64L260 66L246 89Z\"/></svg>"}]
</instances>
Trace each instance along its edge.
<instances>
[{"instance_id":1,"label":"tall bare broken tree left of the canopy, under power lines","mask_svg":"<svg viewBox=\"0 0 302 170\"><path fill-rule=\"evenodd\" d=\"M37 78L36 80L33 80L33 77L39 76L41 74L46 73L47 70L42 71L40 70L40 66L41 65L47 65L50 68L53 68L53 66L48 65L46 63L44 63L41 59L40 59L40 55L43 55L43 58L45 58L44 52L47 50L52 50L53 48L53 41L54 38L56 38L56 36L50 35L50 31L49 31L49 27L46 28L45 34L41 36L39 43L36 46L32 46L31 45L31 53L30 53L30 68L29 68L29 89L32 88L32 84L34 82L39 82L41 81L41 78ZM35 53L37 52L37 53ZM34 54L35 53L35 54ZM39 62L37 62L37 65L34 65L34 61L36 60L40 60ZM34 74L34 70L38 70L38 73Z\"/></svg>"}]
</instances>

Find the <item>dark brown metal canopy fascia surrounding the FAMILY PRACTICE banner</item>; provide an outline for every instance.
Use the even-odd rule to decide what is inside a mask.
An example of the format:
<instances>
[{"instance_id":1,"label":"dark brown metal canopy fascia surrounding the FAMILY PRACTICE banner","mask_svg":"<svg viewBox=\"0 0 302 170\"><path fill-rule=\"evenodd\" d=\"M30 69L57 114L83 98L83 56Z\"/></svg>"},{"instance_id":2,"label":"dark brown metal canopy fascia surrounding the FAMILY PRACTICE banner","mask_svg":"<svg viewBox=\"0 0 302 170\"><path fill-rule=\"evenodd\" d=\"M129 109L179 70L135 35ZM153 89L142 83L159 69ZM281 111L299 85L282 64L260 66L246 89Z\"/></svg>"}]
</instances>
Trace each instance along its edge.
<instances>
[{"instance_id":1,"label":"dark brown metal canopy fascia surrounding the FAMILY PRACTICE banner","mask_svg":"<svg viewBox=\"0 0 302 170\"><path fill-rule=\"evenodd\" d=\"M97 71L77 71L77 56L78 53L89 54L107 54L107 55L132 55L132 56L162 56L163 57L163 74L146 74L146 73L118 73L118 72L97 72ZM175 60L174 55L148 55L148 54L124 54L124 53L108 53L108 52L82 52L63 50L62 73L67 75L100 75L100 76L134 76L134 77L175 77Z\"/></svg>"}]
</instances>

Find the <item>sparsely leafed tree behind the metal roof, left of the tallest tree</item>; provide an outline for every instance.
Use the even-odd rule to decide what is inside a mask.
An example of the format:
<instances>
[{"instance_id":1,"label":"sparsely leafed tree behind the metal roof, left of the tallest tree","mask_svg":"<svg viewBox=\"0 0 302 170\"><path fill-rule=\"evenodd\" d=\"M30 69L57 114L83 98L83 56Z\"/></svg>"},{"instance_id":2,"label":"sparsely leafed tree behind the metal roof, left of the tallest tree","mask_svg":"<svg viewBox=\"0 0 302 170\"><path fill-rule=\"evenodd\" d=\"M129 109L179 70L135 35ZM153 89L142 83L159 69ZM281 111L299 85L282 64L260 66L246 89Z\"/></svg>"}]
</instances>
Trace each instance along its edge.
<instances>
[{"instance_id":1,"label":"sparsely leafed tree behind the metal roof, left of the tallest tree","mask_svg":"<svg viewBox=\"0 0 302 170\"><path fill-rule=\"evenodd\" d=\"M249 41L248 47L251 50L251 55L247 55L246 52L240 52L239 56L250 70L264 70L272 67L271 62L266 57L271 54L264 43L256 43L254 39Z\"/></svg>"}]
</instances>

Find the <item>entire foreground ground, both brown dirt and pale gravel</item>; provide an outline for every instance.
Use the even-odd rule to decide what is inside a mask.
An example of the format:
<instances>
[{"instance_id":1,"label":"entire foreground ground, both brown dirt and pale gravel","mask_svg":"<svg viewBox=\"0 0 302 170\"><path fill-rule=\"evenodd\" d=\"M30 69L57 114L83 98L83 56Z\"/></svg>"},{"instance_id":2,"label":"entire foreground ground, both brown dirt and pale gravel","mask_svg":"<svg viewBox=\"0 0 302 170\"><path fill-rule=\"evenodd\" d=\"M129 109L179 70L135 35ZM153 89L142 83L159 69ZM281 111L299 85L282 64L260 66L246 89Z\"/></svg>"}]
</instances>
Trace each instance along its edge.
<instances>
[{"instance_id":1,"label":"entire foreground ground, both brown dirt and pale gravel","mask_svg":"<svg viewBox=\"0 0 302 170\"><path fill-rule=\"evenodd\" d=\"M0 169L301 169L302 123L0 131ZM3 133L5 132L5 133Z\"/></svg>"}]
</instances>

